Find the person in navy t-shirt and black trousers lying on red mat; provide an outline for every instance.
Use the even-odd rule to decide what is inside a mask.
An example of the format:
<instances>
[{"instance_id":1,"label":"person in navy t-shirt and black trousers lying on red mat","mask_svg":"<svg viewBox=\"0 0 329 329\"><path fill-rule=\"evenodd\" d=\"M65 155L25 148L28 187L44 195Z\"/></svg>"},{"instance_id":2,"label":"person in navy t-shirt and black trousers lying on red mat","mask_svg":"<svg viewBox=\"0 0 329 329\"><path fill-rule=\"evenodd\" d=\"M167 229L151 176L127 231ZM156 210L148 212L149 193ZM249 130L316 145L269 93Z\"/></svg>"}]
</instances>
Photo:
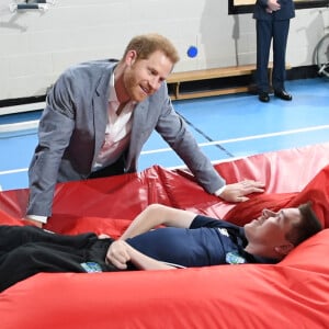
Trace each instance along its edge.
<instances>
[{"instance_id":1,"label":"person in navy t-shirt and black trousers lying on red mat","mask_svg":"<svg viewBox=\"0 0 329 329\"><path fill-rule=\"evenodd\" d=\"M243 227L160 204L143 211L117 240L0 226L0 291L39 272L168 270L276 263L321 230L309 203L262 214Z\"/></svg>"}]
</instances>

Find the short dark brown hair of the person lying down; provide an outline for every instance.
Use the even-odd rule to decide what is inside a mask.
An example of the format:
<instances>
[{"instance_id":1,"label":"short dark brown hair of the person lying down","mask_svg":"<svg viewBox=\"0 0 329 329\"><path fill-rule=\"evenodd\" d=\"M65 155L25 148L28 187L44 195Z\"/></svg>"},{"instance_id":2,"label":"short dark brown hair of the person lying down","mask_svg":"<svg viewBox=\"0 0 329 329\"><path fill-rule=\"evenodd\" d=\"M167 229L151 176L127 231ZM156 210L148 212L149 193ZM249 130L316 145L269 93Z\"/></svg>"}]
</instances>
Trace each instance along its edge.
<instances>
[{"instance_id":1,"label":"short dark brown hair of the person lying down","mask_svg":"<svg viewBox=\"0 0 329 329\"><path fill-rule=\"evenodd\" d=\"M294 224L290 232L286 234L286 239L295 247L322 229L321 223L313 211L310 202L299 205L298 209L302 215L300 220Z\"/></svg>"}]
</instances>

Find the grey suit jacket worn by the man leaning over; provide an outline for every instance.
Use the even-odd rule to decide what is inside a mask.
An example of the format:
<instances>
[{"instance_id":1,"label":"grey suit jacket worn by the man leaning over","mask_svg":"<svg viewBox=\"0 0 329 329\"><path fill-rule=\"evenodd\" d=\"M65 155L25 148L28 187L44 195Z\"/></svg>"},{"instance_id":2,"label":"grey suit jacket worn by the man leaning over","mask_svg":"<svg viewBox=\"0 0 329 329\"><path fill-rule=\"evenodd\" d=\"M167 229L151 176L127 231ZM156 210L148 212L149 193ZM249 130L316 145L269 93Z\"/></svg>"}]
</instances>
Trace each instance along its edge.
<instances>
[{"instance_id":1,"label":"grey suit jacket worn by the man leaning over","mask_svg":"<svg viewBox=\"0 0 329 329\"><path fill-rule=\"evenodd\" d=\"M105 136L109 81L115 63L90 61L66 70L47 95L38 145L29 169L27 215L50 216L57 182L89 177ZM125 172L137 170L141 148L156 129L209 193L225 184L174 112L167 84L137 104L133 113Z\"/></svg>"}]
</instances>

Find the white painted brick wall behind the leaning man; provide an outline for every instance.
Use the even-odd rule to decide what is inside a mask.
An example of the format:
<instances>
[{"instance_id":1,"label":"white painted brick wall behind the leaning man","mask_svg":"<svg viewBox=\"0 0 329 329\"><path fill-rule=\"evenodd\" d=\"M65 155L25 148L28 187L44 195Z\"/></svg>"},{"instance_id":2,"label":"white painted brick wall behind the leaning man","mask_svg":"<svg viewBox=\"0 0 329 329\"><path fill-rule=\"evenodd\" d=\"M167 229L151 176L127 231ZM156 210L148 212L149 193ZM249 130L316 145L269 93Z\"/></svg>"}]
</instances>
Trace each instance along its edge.
<instances>
[{"instance_id":1,"label":"white painted brick wall behind the leaning man","mask_svg":"<svg viewBox=\"0 0 329 329\"><path fill-rule=\"evenodd\" d=\"M12 1L0 0L0 100L42 95L71 64L120 58L134 35L147 32L178 47L175 71L256 60L254 21L228 15L226 0L57 0L44 13L11 13ZM313 64L328 25L328 9L296 11L287 48L293 67ZM190 45L197 57L186 56Z\"/></svg>"}]
</instances>

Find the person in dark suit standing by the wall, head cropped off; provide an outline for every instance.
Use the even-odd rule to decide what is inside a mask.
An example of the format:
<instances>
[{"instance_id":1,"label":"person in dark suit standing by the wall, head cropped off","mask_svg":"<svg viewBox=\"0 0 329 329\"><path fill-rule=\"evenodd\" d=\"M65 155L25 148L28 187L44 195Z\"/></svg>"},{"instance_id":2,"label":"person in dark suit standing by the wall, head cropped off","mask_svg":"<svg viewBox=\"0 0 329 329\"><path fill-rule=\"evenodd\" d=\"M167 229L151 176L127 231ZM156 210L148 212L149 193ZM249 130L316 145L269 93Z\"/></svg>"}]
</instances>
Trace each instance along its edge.
<instances>
[{"instance_id":1,"label":"person in dark suit standing by the wall, head cropped off","mask_svg":"<svg viewBox=\"0 0 329 329\"><path fill-rule=\"evenodd\" d=\"M257 72L256 80L259 100L269 102L270 82L268 66L271 41L273 39L274 95L291 101L293 98L285 91L285 53L291 19L295 16L293 0L257 0L253 19L257 32Z\"/></svg>"}]
</instances>

